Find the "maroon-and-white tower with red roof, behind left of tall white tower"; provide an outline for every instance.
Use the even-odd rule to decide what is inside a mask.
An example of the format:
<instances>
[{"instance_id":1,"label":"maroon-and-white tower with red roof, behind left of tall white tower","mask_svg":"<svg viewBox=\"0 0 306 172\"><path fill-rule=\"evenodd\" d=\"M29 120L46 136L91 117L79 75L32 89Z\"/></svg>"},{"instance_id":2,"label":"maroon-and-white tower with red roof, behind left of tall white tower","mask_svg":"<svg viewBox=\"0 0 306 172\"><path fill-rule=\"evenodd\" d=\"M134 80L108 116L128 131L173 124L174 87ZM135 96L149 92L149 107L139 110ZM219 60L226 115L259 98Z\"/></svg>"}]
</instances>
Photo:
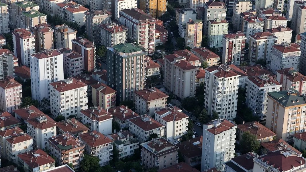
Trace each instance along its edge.
<instances>
[{"instance_id":1,"label":"maroon-and-white tower with red roof, behind left of tall white tower","mask_svg":"<svg viewBox=\"0 0 306 172\"><path fill-rule=\"evenodd\" d=\"M15 29L13 33L14 56L22 65L30 67L31 54L35 53L35 35L26 29Z\"/></svg>"}]
</instances>

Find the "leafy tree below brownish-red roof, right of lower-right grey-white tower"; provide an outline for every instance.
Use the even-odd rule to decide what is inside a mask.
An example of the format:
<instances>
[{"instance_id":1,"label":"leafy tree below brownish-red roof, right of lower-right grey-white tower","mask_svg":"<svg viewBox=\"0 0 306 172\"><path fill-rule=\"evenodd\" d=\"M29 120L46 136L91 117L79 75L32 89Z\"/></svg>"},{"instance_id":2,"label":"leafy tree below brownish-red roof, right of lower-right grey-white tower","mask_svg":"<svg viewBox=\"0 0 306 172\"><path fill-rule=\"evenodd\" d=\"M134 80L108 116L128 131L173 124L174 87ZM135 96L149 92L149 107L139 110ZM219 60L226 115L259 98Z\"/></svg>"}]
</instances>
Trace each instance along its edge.
<instances>
[{"instance_id":1,"label":"leafy tree below brownish-red roof, right of lower-right grey-white tower","mask_svg":"<svg viewBox=\"0 0 306 172\"><path fill-rule=\"evenodd\" d=\"M246 131L241 136L239 146L242 153L256 152L260 147L260 142L257 140L256 135Z\"/></svg>"}]
</instances>

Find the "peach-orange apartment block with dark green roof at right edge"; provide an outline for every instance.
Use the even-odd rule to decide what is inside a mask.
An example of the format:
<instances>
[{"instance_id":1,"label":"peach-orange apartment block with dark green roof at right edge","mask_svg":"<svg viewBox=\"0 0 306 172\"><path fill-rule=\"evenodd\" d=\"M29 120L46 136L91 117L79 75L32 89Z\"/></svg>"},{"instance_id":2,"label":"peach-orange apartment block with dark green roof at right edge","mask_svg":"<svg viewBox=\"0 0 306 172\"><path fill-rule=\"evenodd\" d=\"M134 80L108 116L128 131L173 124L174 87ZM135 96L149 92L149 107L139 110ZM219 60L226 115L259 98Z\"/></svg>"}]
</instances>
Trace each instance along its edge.
<instances>
[{"instance_id":1,"label":"peach-orange apartment block with dark green roof at right edge","mask_svg":"<svg viewBox=\"0 0 306 172\"><path fill-rule=\"evenodd\" d=\"M306 131L306 100L295 90L268 93L266 127L277 134L277 138L292 141L294 134Z\"/></svg>"}]
</instances>

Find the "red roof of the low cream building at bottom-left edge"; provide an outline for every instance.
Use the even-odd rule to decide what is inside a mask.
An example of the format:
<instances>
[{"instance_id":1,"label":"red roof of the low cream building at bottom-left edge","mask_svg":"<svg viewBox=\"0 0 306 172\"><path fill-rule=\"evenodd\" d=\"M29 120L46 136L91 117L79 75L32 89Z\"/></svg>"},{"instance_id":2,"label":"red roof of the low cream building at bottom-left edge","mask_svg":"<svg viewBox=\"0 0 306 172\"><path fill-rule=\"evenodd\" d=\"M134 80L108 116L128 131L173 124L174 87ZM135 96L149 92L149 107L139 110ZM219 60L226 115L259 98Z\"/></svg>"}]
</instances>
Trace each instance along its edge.
<instances>
[{"instance_id":1,"label":"red roof of the low cream building at bottom-left edge","mask_svg":"<svg viewBox=\"0 0 306 172\"><path fill-rule=\"evenodd\" d=\"M41 149L31 150L23 154L17 155L24 163L28 164L29 169L40 167L50 163L55 163L55 160Z\"/></svg>"}]
</instances>

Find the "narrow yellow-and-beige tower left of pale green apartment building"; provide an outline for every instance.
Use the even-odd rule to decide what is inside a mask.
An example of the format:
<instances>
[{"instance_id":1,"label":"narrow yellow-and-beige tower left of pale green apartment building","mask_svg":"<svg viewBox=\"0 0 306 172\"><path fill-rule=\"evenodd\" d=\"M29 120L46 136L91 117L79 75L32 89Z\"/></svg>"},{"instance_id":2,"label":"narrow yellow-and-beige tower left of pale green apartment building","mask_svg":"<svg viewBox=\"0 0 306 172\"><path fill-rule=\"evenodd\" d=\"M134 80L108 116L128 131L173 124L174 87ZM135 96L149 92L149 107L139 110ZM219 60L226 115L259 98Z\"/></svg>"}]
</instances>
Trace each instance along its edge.
<instances>
[{"instance_id":1,"label":"narrow yellow-and-beige tower left of pale green apartment building","mask_svg":"<svg viewBox=\"0 0 306 172\"><path fill-rule=\"evenodd\" d=\"M202 46L202 20L192 20L186 24L185 46L199 48Z\"/></svg>"}]
</instances>

